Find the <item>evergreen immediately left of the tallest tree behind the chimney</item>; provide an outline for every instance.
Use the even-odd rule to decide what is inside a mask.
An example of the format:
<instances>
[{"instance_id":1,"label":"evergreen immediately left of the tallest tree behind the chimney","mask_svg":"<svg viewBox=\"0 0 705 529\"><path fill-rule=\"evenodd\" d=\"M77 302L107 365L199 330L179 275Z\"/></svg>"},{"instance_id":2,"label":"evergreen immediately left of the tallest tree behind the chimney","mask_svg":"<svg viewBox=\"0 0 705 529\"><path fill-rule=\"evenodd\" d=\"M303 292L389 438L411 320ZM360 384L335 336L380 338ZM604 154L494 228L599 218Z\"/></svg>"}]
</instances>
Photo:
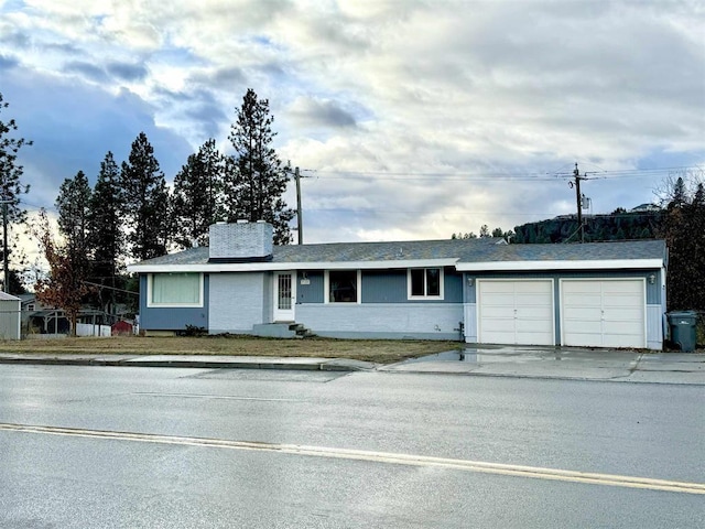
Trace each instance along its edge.
<instances>
[{"instance_id":1,"label":"evergreen immediately left of the tallest tree behind the chimney","mask_svg":"<svg viewBox=\"0 0 705 529\"><path fill-rule=\"evenodd\" d=\"M191 154L176 177L172 193L172 219L174 240L182 248L193 241L203 245L208 240L208 227L224 219L223 179L225 158L213 138L198 152Z\"/></svg>"}]
</instances>

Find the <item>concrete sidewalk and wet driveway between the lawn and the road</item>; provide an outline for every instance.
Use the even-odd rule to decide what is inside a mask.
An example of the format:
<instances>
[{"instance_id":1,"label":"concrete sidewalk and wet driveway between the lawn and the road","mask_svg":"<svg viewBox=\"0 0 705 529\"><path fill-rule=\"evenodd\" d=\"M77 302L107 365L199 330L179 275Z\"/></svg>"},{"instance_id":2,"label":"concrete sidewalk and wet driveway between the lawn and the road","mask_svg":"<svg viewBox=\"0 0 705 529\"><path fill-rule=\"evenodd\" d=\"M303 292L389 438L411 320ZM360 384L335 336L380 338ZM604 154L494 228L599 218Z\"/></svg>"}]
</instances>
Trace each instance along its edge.
<instances>
[{"instance_id":1,"label":"concrete sidewalk and wet driveway between the lawn and the road","mask_svg":"<svg viewBox=\"0 0 705 529\"><path fill-rule=\"evenodd\" d=\"M705 355L554 347L464 347L392 365L347 358L0 353L0 364L455 374L705 385Z\"/></svg>"}]
</instances>

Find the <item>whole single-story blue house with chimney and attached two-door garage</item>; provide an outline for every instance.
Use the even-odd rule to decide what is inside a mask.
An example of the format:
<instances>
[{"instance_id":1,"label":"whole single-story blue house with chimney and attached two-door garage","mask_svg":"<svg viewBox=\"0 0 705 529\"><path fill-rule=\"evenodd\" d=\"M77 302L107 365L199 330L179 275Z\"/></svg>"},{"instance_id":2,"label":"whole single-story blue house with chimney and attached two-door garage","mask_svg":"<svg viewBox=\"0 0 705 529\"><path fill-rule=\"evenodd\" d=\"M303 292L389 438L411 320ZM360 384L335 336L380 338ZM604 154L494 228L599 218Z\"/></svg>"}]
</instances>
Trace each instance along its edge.
<instances>
[{"instance_id":1,"label":"whole single-story blue house with chimney and attached two-door garage","mask_svg":"<svg viewBox=\"0 0 705 529\"><path fill-rule=\"evenodd\" d=\"M500 242L503 242L500 239ZM661 349L662 240L494 238L273 246L265 223L217 224L210 247L128 267L140 328Z\"/></svg>"}]
</instances>

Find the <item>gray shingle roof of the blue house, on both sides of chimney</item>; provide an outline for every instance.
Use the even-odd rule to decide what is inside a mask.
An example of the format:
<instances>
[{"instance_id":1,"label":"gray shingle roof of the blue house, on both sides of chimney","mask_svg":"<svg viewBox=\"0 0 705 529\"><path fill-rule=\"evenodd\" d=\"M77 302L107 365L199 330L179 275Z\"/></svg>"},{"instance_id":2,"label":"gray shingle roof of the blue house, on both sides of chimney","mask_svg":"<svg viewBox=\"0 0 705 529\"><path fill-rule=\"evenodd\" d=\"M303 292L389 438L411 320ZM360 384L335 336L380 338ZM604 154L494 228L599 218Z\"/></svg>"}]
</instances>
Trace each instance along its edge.
<instances>
[{"instance_id":1,"label":"gray shingle roof of the blue house, on both sides of chimney","mask_svg":"<svg viewBox=\"0 0 705 529\"><path fill-rule=\"evenodd\" d=\"M632 240L570 245L498 245L497 239L445 239L395 242L333 242L275 246L274 263L371 262L458 259L459 262L590 261L662 259L663 240ZM208 248L199 247L158 257L140 264L206 264Z\"/></svg>"}]
</instances>

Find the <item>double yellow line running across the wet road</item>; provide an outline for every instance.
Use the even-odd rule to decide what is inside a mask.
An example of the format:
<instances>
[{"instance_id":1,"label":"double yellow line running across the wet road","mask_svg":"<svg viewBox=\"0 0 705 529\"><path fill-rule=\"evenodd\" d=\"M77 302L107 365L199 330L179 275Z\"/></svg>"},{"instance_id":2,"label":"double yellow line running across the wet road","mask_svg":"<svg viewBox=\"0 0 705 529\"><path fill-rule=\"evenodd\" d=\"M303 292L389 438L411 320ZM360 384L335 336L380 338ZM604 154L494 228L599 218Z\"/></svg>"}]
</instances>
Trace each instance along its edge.
<instances>
[{"instance_id":1,"label":"double yellow line running across the wet road","mask_svg":"<svg viewBox=\"0 0 705 529\"><path fill-rule=\"evenodd\" d=\"M705 495L705 484L652 479L648 477L620 476L615 474L597 474L589 472L543 468L538 466L509 465L482 461L454 460L426 455L398 454L392 452L373 452L367 450L334 449L325 446L306 446L301 444L260 443L251 441L229 441L223 439L185 438L159 435L151 433L112 432L104 430L84 430L61 427L40 427L31 424L0 423L0 431L40 433L51 435L68 435L76 438L109 439L116 441L134 441L143 443L207 446L230 450L250 450L279 452L312 457L368 461L395 465L426 466L449 468L455 471L499 474L505 476L530 477L534 479L553 479L589 485L607 485L612 487L642 488L683 494Z\"/></svg>"}]
</instances>

